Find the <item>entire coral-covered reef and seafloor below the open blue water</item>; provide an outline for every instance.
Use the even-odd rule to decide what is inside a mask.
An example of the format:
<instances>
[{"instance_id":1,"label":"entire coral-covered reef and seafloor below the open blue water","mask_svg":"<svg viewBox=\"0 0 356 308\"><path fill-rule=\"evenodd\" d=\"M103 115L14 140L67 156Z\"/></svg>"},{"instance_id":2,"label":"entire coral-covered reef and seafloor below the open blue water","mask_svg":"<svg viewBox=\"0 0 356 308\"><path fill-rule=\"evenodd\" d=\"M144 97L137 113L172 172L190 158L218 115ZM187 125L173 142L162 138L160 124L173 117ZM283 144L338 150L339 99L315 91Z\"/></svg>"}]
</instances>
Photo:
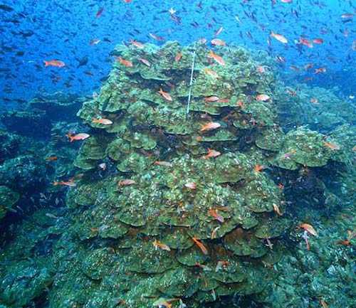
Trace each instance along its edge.
<instances>
[{"instance_id":1,"label":"entire coral-covered reef and seafloor below the open blue water","mask_svg":"<svg viewBox=\"0 0 356 308\"><path fill-rule=\"evenodd\" d=\"M352 307L355 104L214 53L117 46L2 116L0 307Z\"/></svg>"}]
</instances>

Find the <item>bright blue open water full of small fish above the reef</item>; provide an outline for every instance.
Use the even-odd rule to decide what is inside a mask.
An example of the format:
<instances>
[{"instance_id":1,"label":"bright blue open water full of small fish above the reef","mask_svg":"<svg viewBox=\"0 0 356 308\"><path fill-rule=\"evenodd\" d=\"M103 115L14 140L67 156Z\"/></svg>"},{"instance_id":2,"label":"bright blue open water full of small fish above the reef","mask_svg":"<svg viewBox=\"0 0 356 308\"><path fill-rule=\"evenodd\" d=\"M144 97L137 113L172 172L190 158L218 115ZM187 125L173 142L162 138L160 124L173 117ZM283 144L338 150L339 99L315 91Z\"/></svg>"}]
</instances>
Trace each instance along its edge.
<instances>
[{"instance_id":1,"label":"bright blue open water full of small fish above the reef","mask_svg":"<svg viewBox=\"0 0 356 308\"><path fill-rule=\"evenodd\" d=\"M228 45L284 58L286 63L280 63L281 67L292 78L311 77L308 82L314 85L339 85L349 95L356 92L350 84L355 80L355 20L341 17L355 13L355 1L23 0L1 4L13 9L0 9L1 107L41 92L92 95L110 71L110 51L115 45L131 39L163 43L150 33L187 45L199 38L210 41L221 27L219 38ZM100 8L103 13L96 18ZM171 8L177 12L171 15ZM271 31L285 36L288 43L271 38ZM300 45L300 36L310 41L322 38L323 44L314 43L313 48ZM92 40L100 43L90 45ZM88 58L88 63L79 65L83 58ZM54 59L66 67L44 67L44 60ZM315 64L308 72L290 69L290 65L303 68L308 63ZM314 74L315 68L327 71Z\"/></svg>"}]
</instances>

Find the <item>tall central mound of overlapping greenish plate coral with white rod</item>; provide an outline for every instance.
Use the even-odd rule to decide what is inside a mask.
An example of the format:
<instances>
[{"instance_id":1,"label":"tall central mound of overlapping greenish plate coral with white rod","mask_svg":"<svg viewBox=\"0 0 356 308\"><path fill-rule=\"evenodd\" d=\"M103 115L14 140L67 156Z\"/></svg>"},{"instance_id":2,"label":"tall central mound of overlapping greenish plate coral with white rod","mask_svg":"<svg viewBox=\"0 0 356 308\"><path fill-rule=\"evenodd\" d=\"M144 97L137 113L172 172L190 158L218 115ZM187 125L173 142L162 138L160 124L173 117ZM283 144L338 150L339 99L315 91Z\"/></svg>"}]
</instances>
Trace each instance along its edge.
<instances>
[{"instance_id":1,"label":"tall central mound of overlapping greenish plate coral with white rod","mask_svg":"<svg viewBox=\"0 0 356 308\"><path fill-rule=\"evenodd\" d=\"M65 210L38 211L26 223L38 224L38 234L19 248L36 252L36 261L23 265L28 275L19 267L19 286L1 275L4 304L46 294L49 307L63 308L208 307L224 298L283 307L271 283L293 285L290 272L278 271L291 259L286 245L302 240L288 208L293 193L313 199L316 191L325 207L335 206L339 191L318 170L352 165L352 148L343 145L352 134L283 131L272 71L259 70L243 48L214 53L224 63L204 43L116 48L98 97L78 112L88 136L73 165L83 174L61 182L70 186ZM57 122L52 131L70 127ZM63 164L55 174L65 179L73 168ZM352 176L345 178L340 196L349 198ZM309 211L313 204L303 207Z\"/></svg>"}]
</instances>

